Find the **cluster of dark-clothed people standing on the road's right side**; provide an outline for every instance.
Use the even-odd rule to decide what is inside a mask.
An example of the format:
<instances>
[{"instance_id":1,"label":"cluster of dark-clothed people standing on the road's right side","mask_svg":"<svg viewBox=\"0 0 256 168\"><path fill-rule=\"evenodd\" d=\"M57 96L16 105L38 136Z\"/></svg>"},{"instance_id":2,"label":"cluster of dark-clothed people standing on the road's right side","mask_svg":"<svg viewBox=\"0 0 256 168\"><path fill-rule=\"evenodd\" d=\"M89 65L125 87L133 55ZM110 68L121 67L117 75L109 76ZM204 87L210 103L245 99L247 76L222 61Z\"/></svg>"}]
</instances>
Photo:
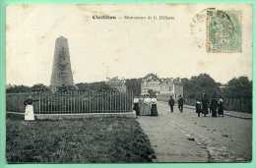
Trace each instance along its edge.
<instances>
[{"instance_id":1,"label":"cluster of dark-clothed people standing on the road's right side","mask_svg":"<svg viewBox=\"0 0 256 168\"><path fill-rule=\"evenodd\" d=\"M210 104L210 106L209 106ZM209 103L209 100L205 93L203 93L202 99L197 99L196 101L196 113L198 114L198 117L200 117L200 114L202 113L204 117L209 114L209 107L210 107L210 113L212 113L212 117L222 116L224 117L224 100L223 98L217 98L217 96L213 96L211 102Z\"/></svg>"}]
</instances>

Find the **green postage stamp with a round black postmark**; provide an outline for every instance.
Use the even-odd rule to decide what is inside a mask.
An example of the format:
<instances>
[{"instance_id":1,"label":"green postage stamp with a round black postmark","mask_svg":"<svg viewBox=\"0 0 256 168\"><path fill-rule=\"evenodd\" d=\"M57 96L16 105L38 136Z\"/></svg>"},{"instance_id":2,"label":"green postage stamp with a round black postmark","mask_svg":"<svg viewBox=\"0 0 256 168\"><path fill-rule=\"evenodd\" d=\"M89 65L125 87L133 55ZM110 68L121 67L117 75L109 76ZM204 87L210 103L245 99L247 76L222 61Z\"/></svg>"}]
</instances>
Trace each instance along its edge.
<instances>
[{"instance_id":1,"label":"green postage stamp with a round black postmark","mask_svg":"<svg viewBox=\"0 0 256 168\"><path fill-rule=\"evenodd\" d=\"M242 51L241 11L207 10L206 50L211 53Z\"/></svg>"}]
</instances>

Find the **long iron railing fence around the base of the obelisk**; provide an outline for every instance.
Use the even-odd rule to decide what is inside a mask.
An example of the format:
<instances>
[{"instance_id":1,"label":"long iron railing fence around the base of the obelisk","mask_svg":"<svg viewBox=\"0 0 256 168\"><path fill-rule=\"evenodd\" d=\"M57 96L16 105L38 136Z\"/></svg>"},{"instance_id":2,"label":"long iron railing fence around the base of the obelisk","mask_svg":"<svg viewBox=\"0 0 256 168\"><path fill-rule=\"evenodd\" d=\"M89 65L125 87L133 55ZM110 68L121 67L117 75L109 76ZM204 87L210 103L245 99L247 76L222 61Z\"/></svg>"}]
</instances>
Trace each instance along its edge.
<instances>
[{"instance_id":1,"label":"long iron railing fence around the base of the obelisk","mask_svg":"<svg viewBox=\"0 0 256 168\"><path fill-rule=\"evenodd\" d=\"M133 110L132 92L7 93L6 110L24 112L32 95L35 114L118 113Z\"/></svg>"}]
</instances>

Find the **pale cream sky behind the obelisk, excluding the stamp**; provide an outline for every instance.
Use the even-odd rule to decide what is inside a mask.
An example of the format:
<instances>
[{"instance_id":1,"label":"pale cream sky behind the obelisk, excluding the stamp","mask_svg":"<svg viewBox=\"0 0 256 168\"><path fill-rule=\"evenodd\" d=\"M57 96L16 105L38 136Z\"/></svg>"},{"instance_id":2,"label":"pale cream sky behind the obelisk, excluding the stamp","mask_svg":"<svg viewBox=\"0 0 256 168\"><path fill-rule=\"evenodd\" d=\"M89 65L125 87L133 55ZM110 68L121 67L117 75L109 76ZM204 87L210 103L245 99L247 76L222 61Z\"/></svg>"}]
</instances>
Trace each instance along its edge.
<instances>
[{"instance_id":1,"label":"pale cream sky behind the obelisk, excluding the stamp","mask_svg":"<svg viewBox=\"0 0 256 168\"><path fill-rule=\"evenodd\" d=\"M205 48L205 9L242 12L242 52ZM93 20L92 16L117 20ZM125 20L124 16L167 16L170 20ZM191 78L202 73L226 83L252 79L250 5L10 5L6 19L6 83L49 84L55 39L68 38L74 83L106 77L131 79L148 73Z\"/></svg>"}]
</instances>

